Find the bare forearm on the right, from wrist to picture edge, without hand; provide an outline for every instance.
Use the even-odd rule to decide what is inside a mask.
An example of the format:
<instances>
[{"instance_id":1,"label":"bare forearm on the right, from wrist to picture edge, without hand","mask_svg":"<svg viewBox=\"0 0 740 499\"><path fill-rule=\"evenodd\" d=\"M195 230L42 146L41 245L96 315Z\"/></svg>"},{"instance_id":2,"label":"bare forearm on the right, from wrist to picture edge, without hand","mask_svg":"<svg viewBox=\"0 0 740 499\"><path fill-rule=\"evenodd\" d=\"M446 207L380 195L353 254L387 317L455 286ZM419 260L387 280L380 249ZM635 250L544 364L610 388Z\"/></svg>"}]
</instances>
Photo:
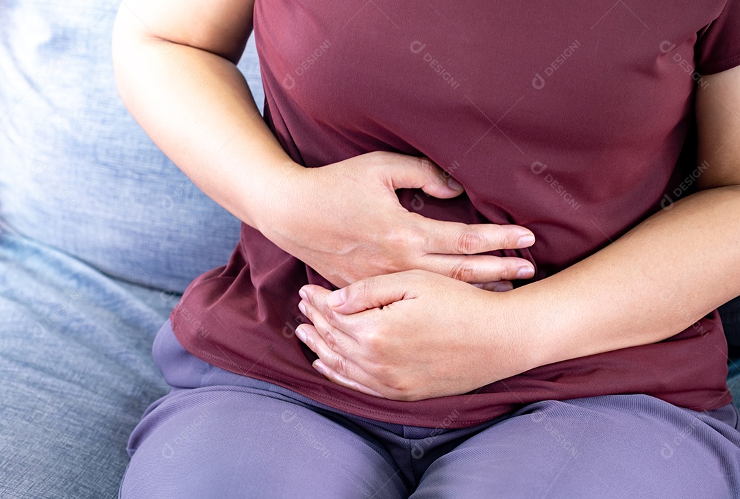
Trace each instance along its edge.
<instances>
[{"instance_id":1,"label":"bare forearm on the right, from wrist to picture edge, without hand","mask_svg":"<svg viewBox=\"0 0 740 499\"><path fill-rule=\"evenodd\" d=\"M740 295L740 186L693 194L511 291L538 365L659 342Z\"/></svg>"}]
</instances>

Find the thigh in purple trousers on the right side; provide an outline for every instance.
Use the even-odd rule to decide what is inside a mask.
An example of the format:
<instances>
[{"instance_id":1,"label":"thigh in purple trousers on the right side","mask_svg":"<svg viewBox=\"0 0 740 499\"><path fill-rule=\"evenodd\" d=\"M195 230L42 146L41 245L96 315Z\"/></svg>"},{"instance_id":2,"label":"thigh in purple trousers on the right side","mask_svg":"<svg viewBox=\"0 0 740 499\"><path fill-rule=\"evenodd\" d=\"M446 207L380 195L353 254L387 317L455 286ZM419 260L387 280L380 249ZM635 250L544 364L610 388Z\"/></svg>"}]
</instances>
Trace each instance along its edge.
<instances>
[{"instance_id":1,"label":"thigh in purple trousers on the right side","mask_svg":"<svg viewBox=\"0 0 740 499\"><path fill-rule=\"evenodd\" d=\"M474 435L414 499L740 497L740 432L643 395L542 401Z\"/></svg>"}]
</instances>

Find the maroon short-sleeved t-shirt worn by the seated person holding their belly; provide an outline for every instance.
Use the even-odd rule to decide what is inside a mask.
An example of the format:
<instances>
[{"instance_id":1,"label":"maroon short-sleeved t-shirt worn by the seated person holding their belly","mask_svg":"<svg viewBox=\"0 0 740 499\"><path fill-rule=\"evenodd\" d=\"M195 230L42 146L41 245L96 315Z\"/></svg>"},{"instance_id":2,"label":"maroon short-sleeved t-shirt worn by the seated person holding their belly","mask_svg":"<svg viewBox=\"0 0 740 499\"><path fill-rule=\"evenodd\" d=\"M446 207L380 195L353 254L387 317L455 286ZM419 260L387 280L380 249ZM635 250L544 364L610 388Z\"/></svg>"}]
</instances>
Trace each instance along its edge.
<instances>
[{"instance_id":1,"label":"maroon short-sleeved t-shirt worn by the seated person holding their belly","mask_svg":"<svg viewBox=\"0 0 740 499\"><path fill-rule=\"evenodd\" d=\"M257 0L255 36L265 119L293 160L429 157L466 194L408 189L403 206L531 229L532 248L492 254L524 257L545 279L692 191L704 170L694 96L712 92L702 75L740 64L740 1ZM334 289L243 225L228 265L192 282L172 312L175 335L218 367L397 424L467 427L533 401L614 393L694 410L731 401L716 312L663 342L537 367L474 394L364 395L317 373L293 333L309 282Z\"/></svg>"}]
</instances>

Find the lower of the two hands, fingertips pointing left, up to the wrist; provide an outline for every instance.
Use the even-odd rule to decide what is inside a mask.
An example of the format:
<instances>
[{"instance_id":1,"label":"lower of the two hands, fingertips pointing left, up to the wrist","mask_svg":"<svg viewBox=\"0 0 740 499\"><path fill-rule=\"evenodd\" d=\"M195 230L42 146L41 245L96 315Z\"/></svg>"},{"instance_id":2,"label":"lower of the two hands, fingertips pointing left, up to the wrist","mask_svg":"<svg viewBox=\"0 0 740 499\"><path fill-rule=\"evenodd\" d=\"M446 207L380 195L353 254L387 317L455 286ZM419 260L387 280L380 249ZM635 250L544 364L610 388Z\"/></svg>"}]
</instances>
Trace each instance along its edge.
<instances>
[{"instance_id":1,"label":"lower of the two hands, fingertips pointing left, up to the wrist","mask_svg":"<svg viewBox=\"0 0 740 499\"><path fill-rule=\"evenodd\" d=\"M428 271L301 288L297 328L326 378L373 396L460 395L536 367L511 299Z\"/></svg>"}]
</instances>

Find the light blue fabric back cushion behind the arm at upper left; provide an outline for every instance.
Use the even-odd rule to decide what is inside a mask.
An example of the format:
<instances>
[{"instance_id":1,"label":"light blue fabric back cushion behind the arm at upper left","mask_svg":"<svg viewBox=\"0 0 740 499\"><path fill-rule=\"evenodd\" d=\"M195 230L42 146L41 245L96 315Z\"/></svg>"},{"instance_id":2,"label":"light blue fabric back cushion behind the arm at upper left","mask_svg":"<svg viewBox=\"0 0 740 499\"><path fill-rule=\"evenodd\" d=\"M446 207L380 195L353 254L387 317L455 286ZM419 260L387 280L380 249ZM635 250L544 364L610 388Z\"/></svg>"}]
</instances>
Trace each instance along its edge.
<instances>
[{"instance_id":1,"label":"light blue fabric back cushion behind the arm at upper left","mask_svg":"<svg viewBox=\"0 0 740 499\"><path fill-rule=\"evenodd\" d=\"M113 0L0 2L0 220L106 274L184 291L239 222L147 137L115 89ZM263 102L253 41L240 64Z\"/></svg>"}]
</instances>

